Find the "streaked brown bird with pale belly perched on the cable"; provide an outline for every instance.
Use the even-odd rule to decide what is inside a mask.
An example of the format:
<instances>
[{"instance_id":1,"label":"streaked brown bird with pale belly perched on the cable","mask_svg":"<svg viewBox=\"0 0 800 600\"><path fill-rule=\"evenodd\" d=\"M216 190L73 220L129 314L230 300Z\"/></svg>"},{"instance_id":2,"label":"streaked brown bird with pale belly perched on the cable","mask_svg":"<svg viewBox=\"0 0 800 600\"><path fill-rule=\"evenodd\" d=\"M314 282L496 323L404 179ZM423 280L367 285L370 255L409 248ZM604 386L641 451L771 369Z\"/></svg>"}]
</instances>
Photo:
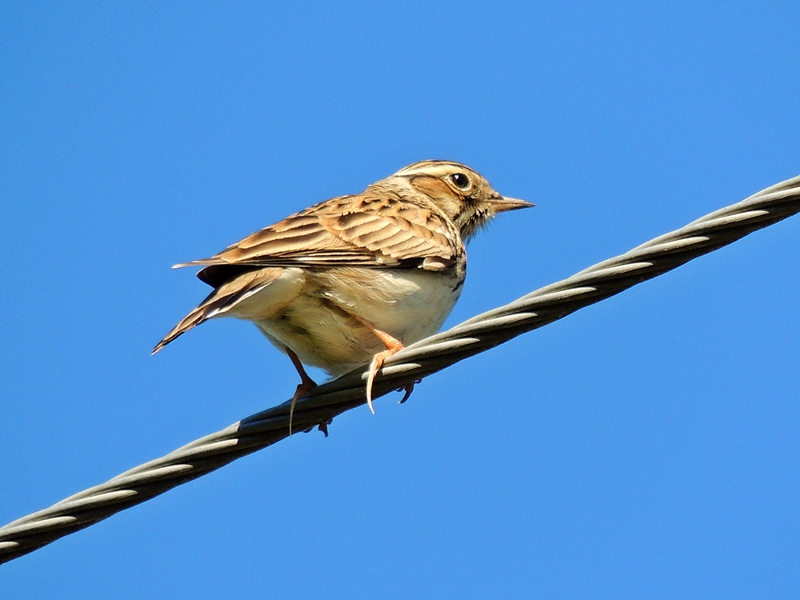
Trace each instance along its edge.
<instances>
[{"instance_id":1,"label":"streaked brown bird with pale belly perched on the cable","mask_svg":"<svg viewBox=\"0 0 800 600\"><path fill-rule=\"evenodd\" d=\"M153 348L220 317L253 322L300 376L296 401L316 382L304 365L338 377L369 364L366 398L384 361L433 333L466 277L465 244L495 215L534 206L504 197L466 165L423 160L360 194L315 204L245 237L202 267L213 291ZM406 386L405 401L413 390ZM323 428L324 426L324 428ZM327 435L327 425L320 429Z\"/></svg>"}]
</instances>

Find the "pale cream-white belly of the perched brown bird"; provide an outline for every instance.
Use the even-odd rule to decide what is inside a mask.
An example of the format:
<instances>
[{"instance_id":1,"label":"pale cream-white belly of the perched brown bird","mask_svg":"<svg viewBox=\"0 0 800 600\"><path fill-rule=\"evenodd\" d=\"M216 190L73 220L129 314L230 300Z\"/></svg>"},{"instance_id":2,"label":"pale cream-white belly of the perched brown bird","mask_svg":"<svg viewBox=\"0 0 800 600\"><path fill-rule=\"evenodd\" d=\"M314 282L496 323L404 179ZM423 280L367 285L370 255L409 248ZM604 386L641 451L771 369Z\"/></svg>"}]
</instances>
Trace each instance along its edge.
<instances>
[{"instance_id":1,"label":"pale cream-white belly of the perched brown bird","mask_svg":"<svg viewBox=\"0 0 800 600\"><path fill-rule=\"evenodd\" d=\"M235 316L254 321L279 348L291 348L302 362L334 376L385 349L354 315L408 345L438 331L461 293L455 277L422 269L346 268L303 275L302 284L297 276L280 278L274 292L268 286L249 301L270 310ZM289 288L296 291L291 299ZM280 302L273 300L278 297Z\"/></svg>"}]
</instances>

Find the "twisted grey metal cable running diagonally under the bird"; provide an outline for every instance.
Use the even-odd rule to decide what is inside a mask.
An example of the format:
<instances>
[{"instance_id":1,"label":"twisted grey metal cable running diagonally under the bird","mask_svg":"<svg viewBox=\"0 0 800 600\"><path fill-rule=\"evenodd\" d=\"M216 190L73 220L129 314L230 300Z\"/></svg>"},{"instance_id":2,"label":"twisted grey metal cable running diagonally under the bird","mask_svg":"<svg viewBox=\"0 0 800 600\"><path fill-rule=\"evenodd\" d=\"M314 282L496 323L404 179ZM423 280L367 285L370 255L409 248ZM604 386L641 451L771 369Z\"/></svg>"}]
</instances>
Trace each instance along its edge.
<instances>
[{"instance_id":1,"label":"twisted grey metal cable running diagonally under the bird","mask_svg":"<svg viewBox=\"0 0 800 600\"><path fill-rule=\"evenodd\" d=\"M800 212L800 176L405 348L386 360L375 381L373 396L383 396L552 323L797 212ZM365 404L366 377L366 372L356 370L300 398L294 410L294 431L309 431ZM0 527L0 563L33 552L288 437L289 405L286 401L247 417L50 508Z\"/></svg>"}]
</instances>

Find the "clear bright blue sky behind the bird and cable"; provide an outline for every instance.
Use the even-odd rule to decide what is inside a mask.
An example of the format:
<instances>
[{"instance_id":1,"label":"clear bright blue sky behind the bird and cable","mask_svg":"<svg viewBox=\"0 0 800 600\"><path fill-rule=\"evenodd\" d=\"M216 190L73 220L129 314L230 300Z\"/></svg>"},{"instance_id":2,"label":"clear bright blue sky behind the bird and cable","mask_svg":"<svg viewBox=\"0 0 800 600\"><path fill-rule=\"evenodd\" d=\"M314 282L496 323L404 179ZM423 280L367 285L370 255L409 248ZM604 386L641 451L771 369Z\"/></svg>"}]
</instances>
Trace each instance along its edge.
<instances>
[{"instance_id":1,"label":"clear bright blue sky behind the bird and cable","mask_svg":"<svg viewBox=\"0 0 800 600\"><path fill-rule=\"evenodd\" d=\"M800 174L796 3L0 8L0 521L288 398L176 262L424 158L455 324ZM800 587L800 218L0 567L8 598ZM317 374L319 375L319 374Z\"/></svg>"}]
</instances>

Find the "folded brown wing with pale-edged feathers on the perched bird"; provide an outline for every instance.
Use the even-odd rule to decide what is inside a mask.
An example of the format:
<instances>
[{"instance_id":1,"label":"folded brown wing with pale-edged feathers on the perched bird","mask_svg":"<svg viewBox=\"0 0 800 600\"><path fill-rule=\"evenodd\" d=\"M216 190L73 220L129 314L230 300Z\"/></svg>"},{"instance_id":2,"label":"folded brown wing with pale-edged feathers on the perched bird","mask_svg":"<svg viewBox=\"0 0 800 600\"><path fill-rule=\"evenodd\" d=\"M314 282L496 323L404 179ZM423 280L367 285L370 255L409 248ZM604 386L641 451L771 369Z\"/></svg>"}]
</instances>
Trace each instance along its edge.
<instances>
[{"instance_id":1,"label":"folded brown wing with pale-edged feathers on the perched bird","mask_svg":"<svg viewBox=\"0 0 800 600\"><path fill-rule=\"evenodd\" d=\"M462 251L442 215L369 190L317 204L270 225L210 258L198 276L219 285L253 267L423 267L441 270Z\"/></svg>"}]
</instances>

